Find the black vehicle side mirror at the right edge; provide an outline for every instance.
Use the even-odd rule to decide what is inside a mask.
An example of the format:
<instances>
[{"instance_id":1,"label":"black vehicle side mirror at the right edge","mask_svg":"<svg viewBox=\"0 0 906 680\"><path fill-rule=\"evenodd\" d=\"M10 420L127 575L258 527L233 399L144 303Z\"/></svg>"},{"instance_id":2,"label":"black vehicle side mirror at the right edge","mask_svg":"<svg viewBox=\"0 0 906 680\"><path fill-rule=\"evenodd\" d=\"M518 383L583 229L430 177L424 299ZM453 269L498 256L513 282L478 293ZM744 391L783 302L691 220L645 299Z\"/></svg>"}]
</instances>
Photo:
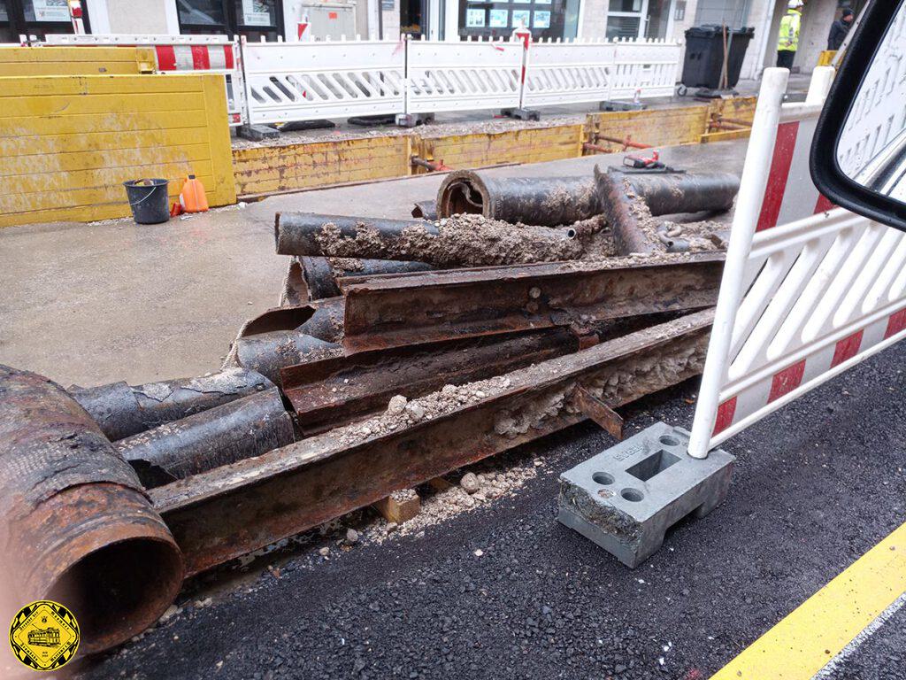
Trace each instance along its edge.
<instances>
[{"instance_id":1,"label":"black vehicle side mirror at the right edge","mask_svg":"<svg viewBox=\"0 0 906 680\"><path fill-rule=\"evenodd\" d=\"M906 0L872 0L824 102L810 157L841 208L906 231Z\"/></svg>"}]
</instances>

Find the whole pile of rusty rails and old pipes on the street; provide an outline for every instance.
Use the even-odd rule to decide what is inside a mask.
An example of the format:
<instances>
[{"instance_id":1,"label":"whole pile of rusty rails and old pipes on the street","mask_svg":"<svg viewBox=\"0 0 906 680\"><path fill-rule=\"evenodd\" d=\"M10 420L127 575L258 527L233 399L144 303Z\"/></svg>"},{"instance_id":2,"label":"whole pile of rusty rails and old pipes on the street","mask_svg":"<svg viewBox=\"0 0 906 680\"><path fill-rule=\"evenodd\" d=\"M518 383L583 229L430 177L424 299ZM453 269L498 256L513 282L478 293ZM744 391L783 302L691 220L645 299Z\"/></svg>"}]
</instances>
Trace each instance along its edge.
<instances>
[{"instance_id":1,"label":"whole pile of rusty rails and old pipes on the street","mask_svg":"<svg viewBox=\"0 0 906 680\"><path fill-rule=\"evenodd\" d=\"M183 578L587 418L618 436L615 408L701 372L717 299L719 242L669 252L656 218L733 192L451 173L435 220L278 215L287 304L220 373L67 393L0 367L0 582L100 651Z\"/></svg>"}]
</instances>

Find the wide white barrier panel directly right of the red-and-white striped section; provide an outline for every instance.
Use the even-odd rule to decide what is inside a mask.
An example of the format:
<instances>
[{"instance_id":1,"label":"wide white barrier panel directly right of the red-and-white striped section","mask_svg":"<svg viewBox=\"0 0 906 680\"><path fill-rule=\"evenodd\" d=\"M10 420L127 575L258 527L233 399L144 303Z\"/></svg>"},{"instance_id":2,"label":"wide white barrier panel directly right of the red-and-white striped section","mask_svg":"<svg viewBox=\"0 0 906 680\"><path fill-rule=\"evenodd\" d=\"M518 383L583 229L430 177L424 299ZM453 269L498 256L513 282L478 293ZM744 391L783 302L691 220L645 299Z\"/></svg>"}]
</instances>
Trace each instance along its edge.
<instances>
[{"instance_id":1,"label":"wide white barrier panel directly right of the red-and-white striped section","mask_svg":"<svg viewBox=\"0 0 906 680\"><path fill-rule=\"evenodd\" d=\"M242 58L252 123L405 112L401 41L244 42Z\"/></svg>"}]
</instances>

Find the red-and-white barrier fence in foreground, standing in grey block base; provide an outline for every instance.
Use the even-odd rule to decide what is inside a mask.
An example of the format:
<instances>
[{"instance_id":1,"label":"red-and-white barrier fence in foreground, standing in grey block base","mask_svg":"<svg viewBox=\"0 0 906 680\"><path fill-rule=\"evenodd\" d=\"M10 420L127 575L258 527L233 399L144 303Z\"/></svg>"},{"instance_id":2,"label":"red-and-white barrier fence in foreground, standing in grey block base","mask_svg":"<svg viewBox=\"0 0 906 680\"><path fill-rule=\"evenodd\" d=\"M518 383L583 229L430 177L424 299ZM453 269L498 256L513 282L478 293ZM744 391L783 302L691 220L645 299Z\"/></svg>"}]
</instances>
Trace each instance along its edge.
<instances>
[{"instance_id":1,"label":"red-and-white barrier fence in foreground, standing in grey block base","mask_svg":"<svg viewBox=\"0 0 906 680\"><path fill-rule=\"evenodd\" d=\"M808 156L834 70L782 104L767 69L708 345L689 454L708 451L906 335L906 234L834 209Z\"/></svg>"}]
</instances>

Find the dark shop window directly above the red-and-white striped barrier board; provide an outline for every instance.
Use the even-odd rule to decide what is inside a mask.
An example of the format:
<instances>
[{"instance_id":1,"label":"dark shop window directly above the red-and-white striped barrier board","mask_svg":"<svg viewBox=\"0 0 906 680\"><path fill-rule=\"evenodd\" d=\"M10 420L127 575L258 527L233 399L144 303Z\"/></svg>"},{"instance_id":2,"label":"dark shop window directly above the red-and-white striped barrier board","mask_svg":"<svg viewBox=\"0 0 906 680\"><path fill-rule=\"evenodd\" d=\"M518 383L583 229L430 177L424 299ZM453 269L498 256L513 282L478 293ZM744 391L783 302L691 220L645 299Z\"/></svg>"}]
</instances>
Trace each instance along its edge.
<instances>
[{"instance_id":1,"label":"dark shop window directly above the red-and-white striped barrier board","mask_svg":"<svg viewBox=\"0 0 906 680\"><path fill-rule=\"evenodd\" d=\"M275 41L283 36L281 5L277 0L177 0L179 32Z\"/></svg>"}]
</instances>

